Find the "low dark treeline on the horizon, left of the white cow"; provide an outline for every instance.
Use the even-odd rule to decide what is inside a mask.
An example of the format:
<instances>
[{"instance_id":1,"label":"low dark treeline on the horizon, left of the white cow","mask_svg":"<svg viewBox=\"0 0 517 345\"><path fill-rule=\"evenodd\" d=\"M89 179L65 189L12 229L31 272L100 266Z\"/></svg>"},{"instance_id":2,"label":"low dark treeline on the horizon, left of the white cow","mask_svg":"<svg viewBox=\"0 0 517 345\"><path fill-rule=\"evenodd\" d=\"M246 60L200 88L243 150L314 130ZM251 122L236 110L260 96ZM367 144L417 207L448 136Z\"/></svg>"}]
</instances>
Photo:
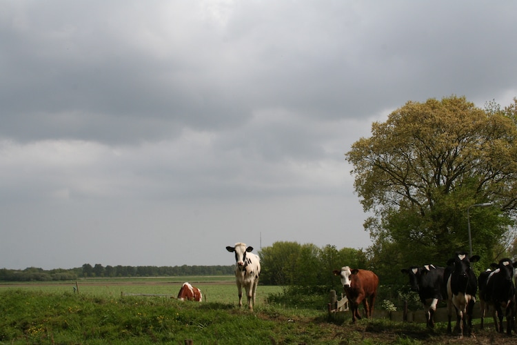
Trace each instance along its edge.
<instances>
[{"instance_id":1,"label":"low dark treeline on the horizon, left of the white cow","mask_svg":"<svg viewBox=\"0 0 517 345\"><path fill-rule=\"evenodd\" d=\"M28 267L24 270L0 268L0 281L3 282L45 282L73 280L88 277L178 277L187 275L233 275L234 265L230 266L102 266L83 264L82 267L53 270Z\"/></svg>"}]
</instances>

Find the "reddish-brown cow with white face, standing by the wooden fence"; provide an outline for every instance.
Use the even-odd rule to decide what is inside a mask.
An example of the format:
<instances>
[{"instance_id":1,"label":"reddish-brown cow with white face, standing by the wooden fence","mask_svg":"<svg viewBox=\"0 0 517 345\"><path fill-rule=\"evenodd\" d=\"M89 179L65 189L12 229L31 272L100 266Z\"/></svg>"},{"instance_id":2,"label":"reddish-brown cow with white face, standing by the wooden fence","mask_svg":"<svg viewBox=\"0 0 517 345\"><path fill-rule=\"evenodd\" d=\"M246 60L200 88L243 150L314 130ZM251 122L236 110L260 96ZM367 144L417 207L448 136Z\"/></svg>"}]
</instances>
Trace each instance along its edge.
<instances>
[{"instance_id":1,"label":"reddish-brown cow with white face, standing by the wooden fence","mask_svg":"<svg viewBox=\"0 0 517 345\"><path fill-rule=\"evenodd\" d=\"M348 266L342 267L341 271L333 270L332 272L341 277L341 284L352 311L352 322L361 319L358 310L361 303L365 307L366 317L372 318L378 289L377 275L371 270L351 269Z\"/></svg>"}]
</instances>

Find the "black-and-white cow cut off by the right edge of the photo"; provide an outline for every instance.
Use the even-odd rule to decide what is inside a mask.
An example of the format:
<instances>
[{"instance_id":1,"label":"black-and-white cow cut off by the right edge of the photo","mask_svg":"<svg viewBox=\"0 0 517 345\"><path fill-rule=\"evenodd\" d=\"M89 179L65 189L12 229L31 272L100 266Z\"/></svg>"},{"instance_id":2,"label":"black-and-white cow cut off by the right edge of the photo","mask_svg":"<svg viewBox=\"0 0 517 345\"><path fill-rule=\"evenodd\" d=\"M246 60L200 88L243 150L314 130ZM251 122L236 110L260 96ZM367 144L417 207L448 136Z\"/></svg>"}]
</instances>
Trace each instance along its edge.
<instances>
[{"instance_id":1,"label":"black-and-white cow cut off by the right edge of the photo","mask_svg":"<svg viewBox=\"0 0 517 345\"><path fill-rule=\"evenodd\" d=\"M514 328L515 286L514 263L510 259L501 259L498 264L491 264L492 271L485 271L478 278L480 299L494 307L492 315L496 331L503 333L503 308L506 314L506 333L511 335ZM483 324L483 312L481 308L481 323ZM499 322L498 322L499 321Z\"/></svg>"}]
</instances>

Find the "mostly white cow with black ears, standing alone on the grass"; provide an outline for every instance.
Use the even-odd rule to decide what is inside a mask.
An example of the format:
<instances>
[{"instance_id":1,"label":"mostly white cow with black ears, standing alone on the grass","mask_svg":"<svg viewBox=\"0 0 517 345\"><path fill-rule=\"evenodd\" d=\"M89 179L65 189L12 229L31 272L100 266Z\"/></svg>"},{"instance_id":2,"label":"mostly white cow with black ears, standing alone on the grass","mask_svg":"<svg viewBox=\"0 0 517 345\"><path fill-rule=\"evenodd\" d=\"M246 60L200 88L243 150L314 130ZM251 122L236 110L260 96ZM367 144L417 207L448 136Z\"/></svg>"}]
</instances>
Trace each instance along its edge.
<instances>
[{"instance_id":1,"label":"mostly white cow with black ears, standing alone on the grass","mask_svg":"<svg viewBox=\"0 0 517 345\"><path fill-rule=\"evenodd\" d=\"M239 306L243 305L243 286L247 296L247 306L253 311L255 304L256 286L259 285L261 275L261 261L259 255L252 252L253 247L246 247L243 243L236 243L235 246L227 246L226 250L235 253L235 279L239 291Z\"/></svg>"}]
</instances>

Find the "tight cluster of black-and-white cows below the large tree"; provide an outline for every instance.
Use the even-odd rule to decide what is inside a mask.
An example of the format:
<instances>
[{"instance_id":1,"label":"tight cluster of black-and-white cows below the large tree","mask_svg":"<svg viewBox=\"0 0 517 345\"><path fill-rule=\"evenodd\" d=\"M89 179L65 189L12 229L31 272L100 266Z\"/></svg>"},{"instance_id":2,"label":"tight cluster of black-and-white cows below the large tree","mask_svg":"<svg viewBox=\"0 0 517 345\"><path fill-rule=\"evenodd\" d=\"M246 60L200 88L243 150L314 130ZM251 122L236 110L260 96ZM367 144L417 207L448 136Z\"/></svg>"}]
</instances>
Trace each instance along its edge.
<instances>
[{"instance_id":1,"label":"tight cluster of black-and-white cows below the large tree","mask_svg":"<svg viewBox=\"0 0 517 345\"><path fill-rule=\"evenodd\" d=\"M456 310L456 327L458 335L472 335L472 313L479 290L480 327L483 328L485 313L492 309L496 330L504 332L503 318L506 316L506 332L511 335L514 330L516 314L516 280L517 263L510 259L501 259L498 264L476 277L472 263L480 257L469 257L465 252L458 252L447 261L447 267L426 265L401 270L409 275L412 290L418 292L420 301L426 307L427 326L434 327L434 312L440 300L447 301L447 332L451 333L452 307ZM514 264L516 271L514 272ZM504 309L504 313L503 313Z\"/></svg>"}]
</instances>

